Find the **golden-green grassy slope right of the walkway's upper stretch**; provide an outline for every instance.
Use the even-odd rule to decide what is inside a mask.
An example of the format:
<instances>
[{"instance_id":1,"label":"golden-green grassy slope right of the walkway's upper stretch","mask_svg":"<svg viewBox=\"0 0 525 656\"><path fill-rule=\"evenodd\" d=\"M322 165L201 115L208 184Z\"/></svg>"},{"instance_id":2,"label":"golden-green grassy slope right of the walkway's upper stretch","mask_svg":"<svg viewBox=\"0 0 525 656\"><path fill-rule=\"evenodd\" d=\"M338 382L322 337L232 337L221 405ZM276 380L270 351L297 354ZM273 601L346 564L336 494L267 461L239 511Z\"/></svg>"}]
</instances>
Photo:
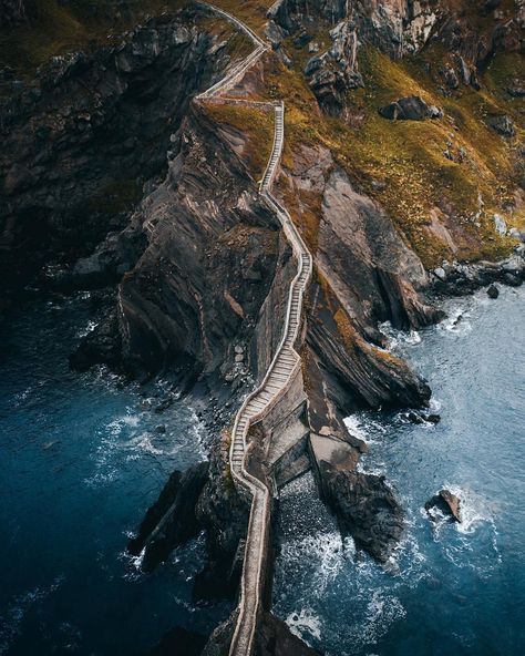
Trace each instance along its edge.
<instances>
[{"instance_id":1,"label":"golden-green grassy slope right of the walkway's upper stretch","mask_svg":"<svg viewBox=\"0 0 525 656\"><path fill-rule=\"evenodd\" d=\"M292 168L294 152L302 144L328 147L351 180L389 212L426 267L444 258L497 259L509 252L512 242L495 233L493 217L512 205L524 136L521 107L505 90L517 70L514 55L494 60L481 91L463 86L449 98L439 92L425 69L443 57L435 47L418 59L394 62L377 49L361 49L366 88L348 95L350 112L359 121L321 114L300 66L288 70L275 57L265 62L267 90L261 92L261 98L286 100L284 166ZM441 106L444 117L388 121L379 115L380 106L406 95ZM506 140L488 125L494 114L512 116L515 139ZM287 202L291 202L289 191ZM319 211L315 204L312 213ZM447 217L457 246L454 253L450 240L434 229L436 212ZM312 223L302 216L309 224L303 225L303 234L315 245ZM521 227L523 221L513 215L508 223Z\"/></svg>"}]
</instances>

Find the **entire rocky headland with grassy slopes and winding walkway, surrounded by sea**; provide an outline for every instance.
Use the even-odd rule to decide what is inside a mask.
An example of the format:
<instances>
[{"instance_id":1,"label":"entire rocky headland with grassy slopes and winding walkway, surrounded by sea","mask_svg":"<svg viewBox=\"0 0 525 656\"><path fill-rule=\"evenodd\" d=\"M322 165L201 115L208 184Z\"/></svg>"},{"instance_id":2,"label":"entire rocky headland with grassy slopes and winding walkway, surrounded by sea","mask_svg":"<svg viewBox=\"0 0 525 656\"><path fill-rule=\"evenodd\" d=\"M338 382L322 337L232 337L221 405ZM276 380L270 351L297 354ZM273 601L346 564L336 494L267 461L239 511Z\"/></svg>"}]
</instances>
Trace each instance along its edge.
<instances>
[{"instance_id":1,"label":"entire rocky headland with grassy slopes and winding walkway, surrounded by sea","mask_svg":"<svg viewBox=\"0 0 525 656\"><path fill-rule=\"evenodd\" d=\"M183 396L209 434L128 543L151 573L205 535L193 594L234 611L186 654L317 653L271 612L308 471L391 562L405 510L344 419L435 424L382 326L525 278L524 24L521 0L0 2L2 307L90 291L72 369L168 379L158 414Z\"/></svg>"}]
</instances>

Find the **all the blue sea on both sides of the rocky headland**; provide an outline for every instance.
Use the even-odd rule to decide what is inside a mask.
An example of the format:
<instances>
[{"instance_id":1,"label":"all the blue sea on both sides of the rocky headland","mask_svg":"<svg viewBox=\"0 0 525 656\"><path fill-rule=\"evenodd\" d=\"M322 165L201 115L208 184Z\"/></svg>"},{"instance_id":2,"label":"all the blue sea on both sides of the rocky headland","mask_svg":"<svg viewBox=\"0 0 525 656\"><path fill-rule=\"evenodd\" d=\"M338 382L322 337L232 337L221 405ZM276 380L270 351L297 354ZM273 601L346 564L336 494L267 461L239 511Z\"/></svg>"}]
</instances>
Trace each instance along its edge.
<instances>
[{"instance_id":1,"label":"all the blue sea on both sides of the rocky headland","mask_svg":"<svg viewBox=\"0 0 525 656\"><path fill-rule=\"evenodd\" d=\"M481 293L420 334L384 328L442 416L349 419L369 443L361 467L384 473L406 510L388 571L341 542L311 476L285 489L275 611L328 656L525 653L524 300ZM89 295L24 303L0 331L2 656L144 654L171 627L207 633L229 609L192 602L202 537L152 575L125 553L173 469L206 449L183 401L154 411L162 381L144 394L105 369L69 371L89 308ZM423 510L445 486L462 524Z\"/></svg>"}]
</instances>

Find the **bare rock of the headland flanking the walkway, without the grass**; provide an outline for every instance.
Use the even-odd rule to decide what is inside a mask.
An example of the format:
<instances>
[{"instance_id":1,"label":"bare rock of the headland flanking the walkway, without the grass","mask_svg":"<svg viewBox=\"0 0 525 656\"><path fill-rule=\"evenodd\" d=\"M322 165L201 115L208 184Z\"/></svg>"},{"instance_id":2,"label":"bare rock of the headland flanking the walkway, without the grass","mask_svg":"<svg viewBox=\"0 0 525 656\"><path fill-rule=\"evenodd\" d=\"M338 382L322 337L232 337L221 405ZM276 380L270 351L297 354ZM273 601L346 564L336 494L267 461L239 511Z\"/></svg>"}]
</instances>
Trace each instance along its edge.
<instances>
[{"instance_id":1,"label":"bare rock of the headland flanking the walkway, without the grass","mask_svg":"<svg viewBox=\"0 0 525 656\"><path fill-rule=\"evenodd\" d=\"M440 3L423 2L416 10L402 2L403 9L397 3L393 11L387 2L390 12L380 10L381 3L350 4L351 16L339 0L316 3L313 14L302 2L276 3L266 28L275 59L262 62L239 92L262 96L275 70L281 76L294 70L287 52L291 39L299 54L308 48L302 74L310 95L301 102L319 122L341 119L344 129L358 132L366 119L382 121L385 130L435 123L446 119L446 107L408 91L390 102L374 99L373 112L351 101L353 91L373 91L360 70L358 44L395 61L439 40L450 57L426 73L443 105L460 88L477 90L496 53L519 48L517 14L506 22L496 18L477 42L464 16L449 20L434 7ZM22 4L18 16L13 3L3 6L10 27L23 18ZM330 28L325 49L312 34L313 17ZM228 429L243 394L261 380L277 348L296 270L280 225L258 195L259 172L253 165L271 129L261 142L249 124L260 116L243 116L239 127L238 115L219 116L192 102L235 57L238 43L230 39L217 37L193 8L152 18L116 45L54 57L30 84L19 83L12 71L0 76L9 92L0 103L3 303L12 303L28 284L61 294L91 290L97 325L71 355L71 366L84 371L103 363L141 381L163 373L189 396L214 435L209 461L173 473L128 549L151 572L204 531L208 558L196 577L199 599L233 599L237 593L249 508L229 471ZM295 95L305 94L294 82ZM512 89L516 93L507 96L518 98L519 80ZM294 106L292 117L298 111ZM447 111L455 116L450 130L460 131L457 124L466 120L454 107ZM511 119L490 126L500 140L517 140ZM443 202L429 211L433 218L424 233L402 229L401 211L381 196L390 182L383 171L378 175L357 164L351 170L346 155L328 147L329 140L301 141L290 132L278 194L315 259L299 345L307 457L341 532L384 564L403 533L404 512L382 476L358 471L366 445L349 433L343 418L363 408L424 409L431 390L385 350L380 324L420 329L443 318L440 305L446 297L495 283L521 285L524 235L507 229L500 217L494 239L504 238L502 248L512 256L501 262L449 257L435 266L435 250L426 253L424 246L428 239L434 248L436 235L454 253L466 253L465 244L481 252L485 233L473 237L481 209L470 214L471 208ZM446 166L461 166L467 157L466 150L454 147L446 146ZM519 147L517 142L508 146L513 181L519 178L514 164ZM397 153L395 166L398 160ZM398 168L389 173L399 180ZM523 180L507 199L514 215L521 203ZM254 451L251 467L269 473L261 451ZM204 654L224 653L231 626L230 618ZM154 653L183 638L188 654L202 648L203 636L177 632ZM269 613L257 648L265 656L313 654Z\"/></svg>"}]
</instances>

